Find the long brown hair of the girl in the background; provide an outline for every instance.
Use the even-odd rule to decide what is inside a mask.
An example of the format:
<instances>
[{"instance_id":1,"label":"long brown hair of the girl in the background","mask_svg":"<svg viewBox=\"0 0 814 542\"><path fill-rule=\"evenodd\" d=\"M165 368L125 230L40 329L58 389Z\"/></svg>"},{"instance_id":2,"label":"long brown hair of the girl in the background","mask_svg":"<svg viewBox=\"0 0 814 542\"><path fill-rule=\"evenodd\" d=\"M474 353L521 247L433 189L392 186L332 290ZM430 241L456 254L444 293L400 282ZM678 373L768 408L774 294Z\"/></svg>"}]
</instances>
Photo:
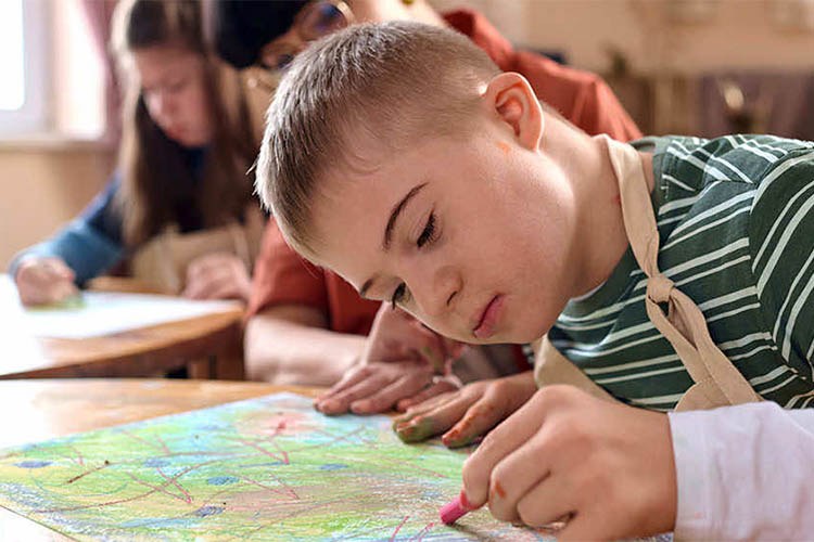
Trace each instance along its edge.
<instances>
[{"instance_id":1,"label":"long brown hair of the girl in the background","mask_svg":"<svg viewBox=\"0 0 814 542\"><path fill-rule=\"evenodd\" d=\"M133 77L131 53L154 46L181 47L204 61L214 138L195 182L180 144L167 138L148 113ZM111 47L125 81L118 166L118 209L126 245L133 247L174 222L179 202L190 202L205 228L239 218L252 198L247 176L256 145L238 74L218 61L203 38L198 0L126 0L113 17Z\"/></svg>"}]
</instances>

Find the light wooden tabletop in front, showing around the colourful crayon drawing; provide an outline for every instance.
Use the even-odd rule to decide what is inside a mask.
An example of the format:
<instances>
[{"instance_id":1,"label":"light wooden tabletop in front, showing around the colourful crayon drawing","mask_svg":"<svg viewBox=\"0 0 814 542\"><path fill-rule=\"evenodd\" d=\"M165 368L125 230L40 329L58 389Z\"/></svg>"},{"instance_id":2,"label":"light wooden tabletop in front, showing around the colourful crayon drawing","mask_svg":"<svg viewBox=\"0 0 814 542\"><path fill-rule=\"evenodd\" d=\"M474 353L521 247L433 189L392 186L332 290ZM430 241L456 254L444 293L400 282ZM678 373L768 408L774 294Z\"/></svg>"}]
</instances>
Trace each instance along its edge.
<instances>
[{"instance_id":1,"label":"light wooden tabletop in front, showing around the colourful crayon drawing","mask_svg":"<svg viewBox=\"0 0 814 542\"><path fill-rule=\"evenodd\" d=\"M320 390L259 383L176 379L0 382L0 447L42 441L230 401ZM11 415L13 413L13 415ZM71 540L0 507L0 540Z\"/></svg>"}]
</instances>

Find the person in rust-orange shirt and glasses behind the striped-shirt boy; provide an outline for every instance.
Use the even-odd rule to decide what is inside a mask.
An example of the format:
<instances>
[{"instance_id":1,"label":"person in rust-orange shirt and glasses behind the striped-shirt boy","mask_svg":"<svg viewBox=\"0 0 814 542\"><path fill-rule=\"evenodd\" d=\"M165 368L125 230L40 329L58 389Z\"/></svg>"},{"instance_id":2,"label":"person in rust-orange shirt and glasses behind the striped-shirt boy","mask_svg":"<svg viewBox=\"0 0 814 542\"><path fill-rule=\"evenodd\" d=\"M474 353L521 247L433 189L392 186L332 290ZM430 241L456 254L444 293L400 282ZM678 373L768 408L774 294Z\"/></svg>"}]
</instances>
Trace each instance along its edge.
<instances>
[{"instance_id":1,"label":"person in rust-orange shirt and glasses behind the striped-shirt boy","mask_svg":"<svg viewBox=\"0 0 814 542\"><path fill-rule=\"evenodd\" d=\"M215 35L218 50L237 67L263 63L278 69L303 50L307 41L353 23L415 21L449 26L486 51L504 70L521 73L537 96L554 104L563 116L589 133L608 133L619 141L641 133L607 83L597 75L561 66L530 52L516 50L480 13L456 10L437 13L424 0L221 0ZM264 106L265 113L265 106ZM249 376L277 384L335 384L319 398L317 408L339 414L348 410L372 413L418 402L421 397L450 389L427 363L435 365L447 352L420 326L387 314L403 331L408 356L374 349L366 340L380 304L358 297L341 278L304 263L284 242L274 220L269 221L257 263L252 296L246 309L245 360ZM389 341L394 334L389 331ZM417 356L432 352L433 356ZM377 352L378 353L378 352ZM529 369L519 348L491 345L468 349L456 360L455 376L465 382L494 377ZM343 376L344 374L344 376ZM451 379L451 378L450 378ZM399 384L400 380L400 384ZM425 385L435 380L432 387ZM418 393L422 388L420 395ZM453 388L454 389L454 388ZM402 399L408 398L408 399ZM399 399L402 399L399 401Z\"/></svg>"}]
</instances>

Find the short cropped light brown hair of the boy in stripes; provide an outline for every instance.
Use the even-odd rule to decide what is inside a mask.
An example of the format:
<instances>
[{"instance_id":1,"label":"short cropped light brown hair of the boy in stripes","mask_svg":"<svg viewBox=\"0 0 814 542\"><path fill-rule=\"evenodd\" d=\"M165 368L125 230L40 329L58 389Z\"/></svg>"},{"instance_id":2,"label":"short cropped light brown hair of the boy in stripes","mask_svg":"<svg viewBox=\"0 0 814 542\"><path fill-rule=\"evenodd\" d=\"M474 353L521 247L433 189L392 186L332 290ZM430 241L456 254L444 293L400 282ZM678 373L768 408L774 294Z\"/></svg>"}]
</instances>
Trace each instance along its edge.
<instances>
[{"instance_id":1,"label":"short cropped light brown hair of the boy in stripes","mask_svg":"<svg viewBox=\"0 0 814 542\"><path fill-rule=\"evenodd\" d=\"M268 109L255 183L287 241L313 254L316 182L353 167L358 138L397 152L463 133L499 73L463 35L408 22L354 25L297 55Z\"/></svg>"}]
</instances>

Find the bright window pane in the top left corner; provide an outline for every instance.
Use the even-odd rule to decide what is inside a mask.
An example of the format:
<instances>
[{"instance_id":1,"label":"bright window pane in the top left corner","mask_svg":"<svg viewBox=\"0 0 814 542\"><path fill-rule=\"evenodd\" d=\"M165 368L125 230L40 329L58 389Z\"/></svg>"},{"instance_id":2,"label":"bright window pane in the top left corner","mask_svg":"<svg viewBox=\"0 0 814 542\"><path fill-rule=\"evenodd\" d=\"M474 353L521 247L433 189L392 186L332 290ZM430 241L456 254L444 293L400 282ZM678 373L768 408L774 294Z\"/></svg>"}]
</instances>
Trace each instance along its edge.
<instances>
[{"instance_id":1,"label":"bright window pane in the top left corner","mask_svg":"<svg viewBox=\"0 0 814 542\"><path fill-rule=\"evenodd\" d=\"M42 131L46 126L46 1L0 1L0 136Z\"/></svg>"}]
</instances>

